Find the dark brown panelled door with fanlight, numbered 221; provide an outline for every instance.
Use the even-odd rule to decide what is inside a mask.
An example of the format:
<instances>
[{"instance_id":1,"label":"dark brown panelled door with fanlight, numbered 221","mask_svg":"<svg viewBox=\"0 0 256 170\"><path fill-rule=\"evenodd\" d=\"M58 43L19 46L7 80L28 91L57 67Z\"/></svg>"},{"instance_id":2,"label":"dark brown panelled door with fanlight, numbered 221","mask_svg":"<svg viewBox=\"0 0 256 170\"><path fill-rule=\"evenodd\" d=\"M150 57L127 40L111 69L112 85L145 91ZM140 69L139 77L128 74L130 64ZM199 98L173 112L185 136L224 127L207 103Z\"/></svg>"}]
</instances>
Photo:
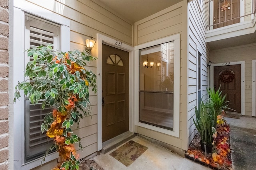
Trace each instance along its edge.
<instances>
[{"instance_id":1,"label":"dark brown panelled door with fanlight, numbered 221","mask_svg":"<svg viewBox=\"0 0 256 170\"><path fill-rule=\"evenodd\" d=\"M129 130L129 52L102 44L102 142Z\"/></svg>"}]
</instances>

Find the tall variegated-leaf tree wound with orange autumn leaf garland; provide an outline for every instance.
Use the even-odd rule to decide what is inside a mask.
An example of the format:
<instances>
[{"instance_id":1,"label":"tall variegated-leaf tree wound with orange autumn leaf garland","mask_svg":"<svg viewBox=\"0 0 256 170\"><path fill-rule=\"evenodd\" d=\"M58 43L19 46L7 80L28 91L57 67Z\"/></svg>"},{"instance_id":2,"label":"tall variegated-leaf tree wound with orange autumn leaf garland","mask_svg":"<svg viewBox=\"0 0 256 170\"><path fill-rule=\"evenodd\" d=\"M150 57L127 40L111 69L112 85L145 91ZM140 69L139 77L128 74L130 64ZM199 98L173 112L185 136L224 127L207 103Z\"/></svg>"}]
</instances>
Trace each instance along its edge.
<instances>
[{"instance_id":1,"label":"tall variegated-leaf tree wound with orange autumn leaf garland","mask_svg":"<svg viewBox=\"0 0 256 170\"><path fill-rule=\"evenodd\" d=\"M80 119L90 115L89 86L97 91L96 75L84 66L86 61L96 58L87 51L63 53L51 46L39 46L27 52L28 57L33 58L26 65L24 77L28 79L18 82L14 102L20 98L20 90L24 90L32 104L41 101L42 109L46 105L55 108L41 125L42 133L47 131L46 135L54 139L49 150L59 152L58 164L53 170L78 170L80 162L74 143L79 143L81 149L82 146L80 138L73 134L72 125L79 125Z\"/></svg>"}]
</instances>

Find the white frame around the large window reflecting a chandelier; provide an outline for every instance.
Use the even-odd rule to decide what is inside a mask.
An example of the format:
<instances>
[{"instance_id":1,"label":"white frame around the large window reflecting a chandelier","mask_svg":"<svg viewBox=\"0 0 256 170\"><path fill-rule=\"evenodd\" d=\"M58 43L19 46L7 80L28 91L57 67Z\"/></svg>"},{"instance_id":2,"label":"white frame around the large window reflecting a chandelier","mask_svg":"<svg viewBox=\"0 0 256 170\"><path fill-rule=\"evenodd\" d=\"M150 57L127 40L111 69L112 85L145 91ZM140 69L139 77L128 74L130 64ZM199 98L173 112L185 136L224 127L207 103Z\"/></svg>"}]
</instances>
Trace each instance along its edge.
<instances>
[{"instance_id":1,"label":"white frame around the large window reflecting a chandelier","mask_svg":"<svg viewBox=\"0 0 256 170\"><path fill-rule=\"evenodd\" d=\"M174 41L174 108L173 108L173 130L163 129L160 127L148 125L142 122L139 122L139 50L147 47L151 47L154 45L167 43L170 41ZM157 131L160 133L164 133L167 135L171 135L174 137L180 137L180 34L171 35L168 37L164 37L162 39L157 39L154 41L150 41L148 43L144 43L142 45L138 45L134 47L135 52L135 60L134 65L134 79L136 80L135 84L135 93L134 93L134 107L135 107L135 125L144 127L153 131Z\"/></svg>"}]
</instances>

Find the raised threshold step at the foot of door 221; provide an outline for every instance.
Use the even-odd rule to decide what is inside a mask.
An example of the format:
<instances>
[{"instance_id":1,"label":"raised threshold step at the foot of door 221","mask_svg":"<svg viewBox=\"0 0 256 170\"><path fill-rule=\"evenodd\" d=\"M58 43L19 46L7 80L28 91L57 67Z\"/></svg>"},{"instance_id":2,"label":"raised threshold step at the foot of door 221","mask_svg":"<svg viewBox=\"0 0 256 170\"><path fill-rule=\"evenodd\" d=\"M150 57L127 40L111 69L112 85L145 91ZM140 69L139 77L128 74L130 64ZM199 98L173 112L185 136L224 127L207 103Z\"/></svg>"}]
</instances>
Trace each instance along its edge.
<instances>
[{"instance_id":1,"label":"raised threshold step at the foot of door 221","mask_svg":"<svg viewBox=\"0 0 256 170\"><path fill-rule=\"evenodd\" d=\"M127 131L125 133L122 133L121 135L118 135L117 137L114 137L106 142L102 143L102 150L101 153L105 154L109 152L112 149L115 149L116 147L122 145L123 143L127 142L128 140L134 138L134 133Z\"/></svg>"}]
</instances>

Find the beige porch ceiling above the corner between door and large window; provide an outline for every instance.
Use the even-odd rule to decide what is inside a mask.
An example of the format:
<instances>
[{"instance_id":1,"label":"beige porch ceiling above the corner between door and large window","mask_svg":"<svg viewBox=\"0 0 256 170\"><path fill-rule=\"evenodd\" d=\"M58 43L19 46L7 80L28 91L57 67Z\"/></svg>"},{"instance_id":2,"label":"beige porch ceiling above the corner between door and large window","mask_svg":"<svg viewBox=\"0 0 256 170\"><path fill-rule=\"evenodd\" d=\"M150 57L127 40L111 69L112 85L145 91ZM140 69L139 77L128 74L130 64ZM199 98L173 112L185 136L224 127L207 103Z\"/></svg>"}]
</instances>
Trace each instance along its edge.
<instances>
[{"instance_id":1,"label":"beige porch ceiling above the corner between door and large window","mask_svg":"<svg viewBox=\"0 0 256 170\"><path fill-rule=\"evenodd\" d=\"M120 14L132 23L181 1L182 0L94 0L96 4L108 6L113 10L114 14Z\"/></svg>"}]
</instances>

